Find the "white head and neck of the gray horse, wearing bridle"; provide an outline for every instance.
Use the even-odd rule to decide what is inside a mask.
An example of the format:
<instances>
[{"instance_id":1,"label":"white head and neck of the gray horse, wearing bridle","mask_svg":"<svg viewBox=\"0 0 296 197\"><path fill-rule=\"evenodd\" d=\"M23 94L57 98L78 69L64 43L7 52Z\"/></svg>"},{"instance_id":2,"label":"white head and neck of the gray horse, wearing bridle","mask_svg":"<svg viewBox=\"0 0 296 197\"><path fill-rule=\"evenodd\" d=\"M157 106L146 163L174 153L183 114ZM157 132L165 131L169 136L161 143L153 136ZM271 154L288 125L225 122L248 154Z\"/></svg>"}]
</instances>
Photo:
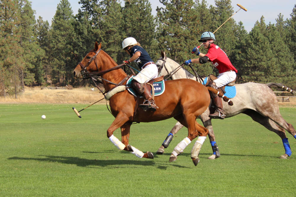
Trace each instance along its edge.
<instances>
[{"instance_id":1,"label":"white head and neck of the gray horse, wearing bridle","mask_svg":"<svg viewBox=\"0 0 296 197\"><path fill-rule=\"evenodd\" d=\"M161 58L156 61L156 66L158 68L158 76L168 75L175 72L171 78L172 79L192 79L196 81L196 77L189 71L180 66L177 62L165 56L165 52L161 51ZM200 82L200 80L199 80Z\"/></svg>"}]
</instances>

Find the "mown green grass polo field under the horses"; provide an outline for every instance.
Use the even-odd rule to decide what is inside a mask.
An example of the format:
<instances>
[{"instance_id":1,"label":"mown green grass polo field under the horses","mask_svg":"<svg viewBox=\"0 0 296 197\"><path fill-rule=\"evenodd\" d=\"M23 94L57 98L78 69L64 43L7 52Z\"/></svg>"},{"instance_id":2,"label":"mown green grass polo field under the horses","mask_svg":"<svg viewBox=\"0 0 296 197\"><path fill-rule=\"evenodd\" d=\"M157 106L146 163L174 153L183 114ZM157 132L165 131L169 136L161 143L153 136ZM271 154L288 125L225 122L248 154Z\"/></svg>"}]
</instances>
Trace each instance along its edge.
<instances>
[{"instance_id":1,"label":"mown green grass polo field under the horses","mask_svg":"<svg viewBox=\"0 0 296 197\"><path fill-rule=\"evenodd\" d=\"M185 128L165 154L155 154L174 119L131 126L130 144L155 156L139 159L107 138L114 118L106 105L83 110L82 118L73 106L87 105L0 104L0 196L295 196L295 138L287 133L293 153L278 159L284 154L280 137L246 115L213 120L221 157L207 159L207 138L194 166L195 141L168 162ZM296 108L280 110L296 127ZM119 129L114 135L121 139Z\"/></svg>"}]
</instances>

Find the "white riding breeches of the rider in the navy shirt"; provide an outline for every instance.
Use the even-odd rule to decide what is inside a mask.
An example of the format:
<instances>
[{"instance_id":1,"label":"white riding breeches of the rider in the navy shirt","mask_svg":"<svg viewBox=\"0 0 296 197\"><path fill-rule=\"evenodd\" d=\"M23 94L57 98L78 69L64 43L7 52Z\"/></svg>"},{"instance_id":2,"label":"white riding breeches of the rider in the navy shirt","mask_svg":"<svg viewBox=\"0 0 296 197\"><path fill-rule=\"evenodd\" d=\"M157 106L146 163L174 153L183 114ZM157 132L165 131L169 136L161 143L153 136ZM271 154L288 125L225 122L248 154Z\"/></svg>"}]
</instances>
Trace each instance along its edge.
<instances>
[{"instance_id":1,"label":"white riding breeches of the rider in the navy shirt","mask_svg":"<svg viewBox=\"0 0 296 197\"><path fill-rule=\"evenodd\" d=\"M158 70L155 64L149 64L144 69L141 70L136 76L133 77L133 80L144 84L149 82L151 79L157 78Z\"/></svg>"}]
</instances>

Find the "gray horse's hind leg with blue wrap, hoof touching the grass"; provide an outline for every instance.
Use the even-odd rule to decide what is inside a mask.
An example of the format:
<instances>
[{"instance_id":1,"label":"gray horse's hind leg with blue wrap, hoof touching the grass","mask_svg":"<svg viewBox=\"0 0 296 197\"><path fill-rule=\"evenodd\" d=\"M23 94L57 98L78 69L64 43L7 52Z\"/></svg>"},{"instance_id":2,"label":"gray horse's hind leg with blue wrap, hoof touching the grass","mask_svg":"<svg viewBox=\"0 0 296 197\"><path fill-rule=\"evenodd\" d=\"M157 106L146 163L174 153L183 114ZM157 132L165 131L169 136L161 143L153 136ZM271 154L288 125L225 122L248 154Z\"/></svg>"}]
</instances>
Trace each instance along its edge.
<instances>
[{"instance_id":1,"label":"gray horse's hind leg with blue wrap, hoof touching the grass","mask_svg":"<svg viewBox=\"0 0 296 197\"><path fill-rule=\"evenodd\" d=\"M290 149L290 145L285 133L284 128L282 128L281 126L279 126L276 122L274 122L273 120L271 120L270 118L263 116L261 114L259 114L256 111L253 110L247 110L244 112L244 114L249 115L254 121L260 123L261 125L263 125L265 128L267 128L270 131L275 132L278 136L280 136L280 138L282 139L283 145L284 145L284 149L285 149L285 154L281 155L279 158L281 159L287 159L288 156L290 156L292 154L292 151ZM281 117L281 116L280 116ZM280 118L281 121L284 121L284 118ZM287 123L286 121L284 121L287 125L291 126L291 128L289 128L289 130L293 131L294 128L291 124ZM282 124L283 125L283 124ZM287 127L286 127L287 128ZM288 130L288 131L289 131ZM295 132L295 130L294 130ZM289 132L290 133L290 132ZM292 134L292 133L291 133Z\"/></svg>"}]
</instances>

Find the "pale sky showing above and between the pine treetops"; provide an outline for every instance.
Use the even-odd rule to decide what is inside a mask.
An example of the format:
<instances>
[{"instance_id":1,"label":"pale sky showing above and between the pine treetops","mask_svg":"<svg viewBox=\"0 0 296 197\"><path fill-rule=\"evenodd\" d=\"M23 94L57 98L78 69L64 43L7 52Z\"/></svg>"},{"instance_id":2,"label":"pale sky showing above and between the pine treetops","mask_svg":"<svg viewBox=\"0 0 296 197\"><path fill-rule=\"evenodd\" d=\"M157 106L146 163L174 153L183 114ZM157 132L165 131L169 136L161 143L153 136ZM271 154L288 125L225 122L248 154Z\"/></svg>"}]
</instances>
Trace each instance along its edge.
<instances>
[{"instance_id":1,"label":"pale sky showing above and between the pine treetops","mask_svg":"<svg viewBox=\"0 0 296 197\"><path fill-rule=\"evenodd\" d=\"M49 25L51 25L52 18L57 10L57 5L60 3L60 0L30 0L32 2L32 9L36 11L35 19L38 19L39 16L43 18L43 20L47 20ZM78 4L79 0L68 0L71 4L73 14L78 13L78 9L81 7ZM156 8L163 6L159 2L159 0L149 0L152 6L152 14L156 15ZM209 5L215 6L214 0L206 0ZM252 27L254 27L255 22L260 20L261 16L264 16L265 23L275 24L276 18L278 18L279 13L284 16L284 20L290 18L290 14L292 13L292 9L294 8L296 1L295 0L247 0L247 1L232 1L231 5L233 7L234 12L236 12L239 7L237 4L241 4L248 11L245 12L241 9L237 12L233 19L236 22L242 21L245 30L250 32ZM230 17L230 16L229 16ZM218 28L218 27L217 27ZM222 27L221 27L222 28ZM215 31L215 30L210 30Z\"/></svg>"}]
</instances>

